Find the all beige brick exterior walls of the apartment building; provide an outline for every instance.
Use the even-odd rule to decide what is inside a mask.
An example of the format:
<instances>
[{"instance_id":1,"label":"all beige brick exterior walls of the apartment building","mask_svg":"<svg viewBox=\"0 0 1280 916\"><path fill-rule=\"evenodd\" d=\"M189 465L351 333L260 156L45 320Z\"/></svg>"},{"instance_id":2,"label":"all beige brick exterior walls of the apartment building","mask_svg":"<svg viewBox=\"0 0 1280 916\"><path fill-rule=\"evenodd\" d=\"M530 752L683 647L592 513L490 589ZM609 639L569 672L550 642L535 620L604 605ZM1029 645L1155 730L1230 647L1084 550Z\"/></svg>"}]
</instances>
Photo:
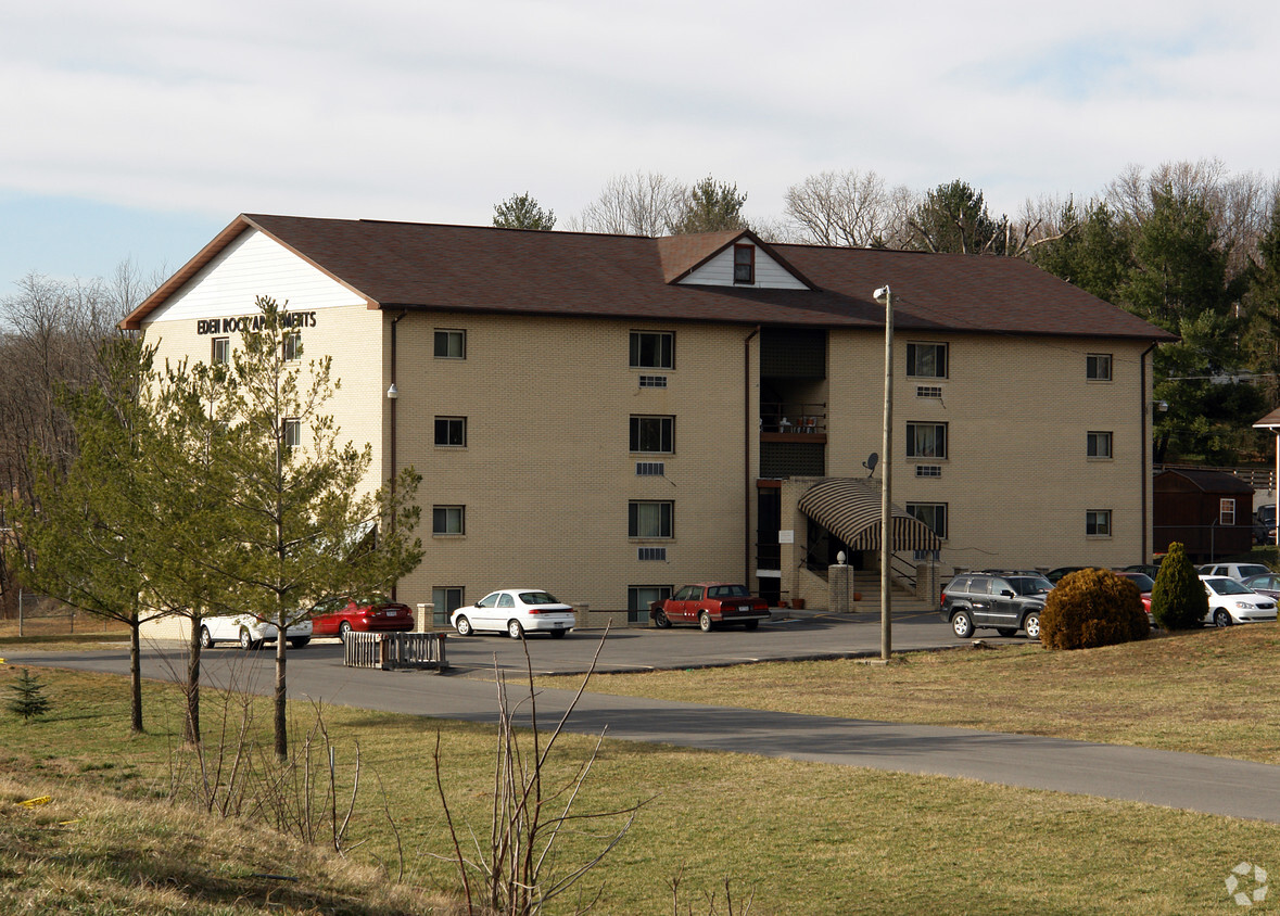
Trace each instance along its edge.
<instances>
[{"instance_id":1,"label":"all beige brick exterior walls of the apartment building","mask_svg":"<svg viewBox=\"0 0 1280 916\"><path fill-rule=\"evenodd\" d=\"M342 381L329 412L344 435L374 448L369 487L392 472L393 317L360 306L323 308L303 331L303 358L330 354ZM466 331L465 359L434 356L436 329ZM630 368L631 330L673 333L675 368ZM195 321L156 322L147 335L159 342L161 363L187 353L207 359L210 342ZM948 344L947 379L906 379L911 340ZM397 342L397 459L424 476L426 546L398 587L401 600L430 601L435 586L462 587L467 601L497 587L536 586L594 614L625 608L628 585L724 578L756 586L759 338L750 328L410 312ZM1138 390L1142 343L899 330L896 344L895 501L948 505L945 571L1142 559L1140 481L1149 507L1139 464L1139 411L1149 404L1149 390ZM1111 383L1085 381L1091 352L1112 354ZM640 388L641 374L664 375L667 388ZM940 385L943 397L918 398L916 384ZM861 462L881 450L882 385L883 336L833 331L819 391L829 403L828 475L867 475ZM675 452L631 453L632 415L675 416ZM465 448L434 444L438 416L467 418ZM911 421L948 423L948 457L929 462L941 464L938 478L914 476L916 462L905 454ZM1114 434L1111 461L1085 458L1089 430ZM666 476L636 476L637 461L664 462ZM803 557L805 540L797 498L783 495L783 527L791 518L796 536L785 550L783 592L787 564ZM634 499L672 500L675 536L630 539ZM433 536L433 505L466 507L466 533ZM1085 509L1112 510L1111 537L1085 537ZM666 546L667 560L639 560L637 548L649 545Z\"/></svg>"}]
</instances>

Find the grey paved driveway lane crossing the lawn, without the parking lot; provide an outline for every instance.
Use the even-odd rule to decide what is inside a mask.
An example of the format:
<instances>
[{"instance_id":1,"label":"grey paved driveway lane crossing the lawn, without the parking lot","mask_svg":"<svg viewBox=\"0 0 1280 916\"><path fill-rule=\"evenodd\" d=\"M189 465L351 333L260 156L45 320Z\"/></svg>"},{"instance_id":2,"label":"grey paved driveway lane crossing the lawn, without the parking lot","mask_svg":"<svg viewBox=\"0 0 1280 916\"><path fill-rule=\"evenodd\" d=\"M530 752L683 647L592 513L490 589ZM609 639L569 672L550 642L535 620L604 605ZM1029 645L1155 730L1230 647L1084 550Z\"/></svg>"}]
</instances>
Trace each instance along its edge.
<instances>
[{"instance_id":1,"label":"grey paved driveway lane crossing the lawn, without the parking lot","mask_svg":"<svg viewBox=\"0 0 1280 916\"><path fill-rule=\"evenodd\" d=\"M122 651L19 655L9 650L6 655L9 664L114 673L125 673L128 664ZM169 681L173 672L182 670L180 650L151 649L146 655L150 678ZM270 652L206 652L204 670L209 686L261 693L270 692L274 677ZM494 682L465 672L440 675L353 669L343 668L340 659L315 654L306 661L294 656L288 678L289 695L296 699L479 723L498 718ZM539 691L539 723L553 725L572 696L566 690ZM509 677L508 697L512 704L522 701L520 715L527 723L527 683ZM605 732L623 741L968 777L1280 823L1280 766L1193 754L603 693L584 695L568 729Z\"/></svg>"}]
</instances>

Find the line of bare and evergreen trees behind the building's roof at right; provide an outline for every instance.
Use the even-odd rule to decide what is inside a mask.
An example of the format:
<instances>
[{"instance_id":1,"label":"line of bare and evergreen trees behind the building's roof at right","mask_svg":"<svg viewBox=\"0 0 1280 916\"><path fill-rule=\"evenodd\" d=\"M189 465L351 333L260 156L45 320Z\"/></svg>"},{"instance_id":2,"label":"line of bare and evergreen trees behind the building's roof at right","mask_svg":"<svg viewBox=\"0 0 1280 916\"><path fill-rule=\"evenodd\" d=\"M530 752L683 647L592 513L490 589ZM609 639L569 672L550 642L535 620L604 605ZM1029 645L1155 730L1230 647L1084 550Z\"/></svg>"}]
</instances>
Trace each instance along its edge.
<instances>
[{"instance_id":1,"label":"line of bare and evergreen trees behind the building's roof at right","mask_svg":"<svg viewBox=\"0 0 1280 916\"><path fill-rule=\"evenodd\" d=\"M1028 200L1015 216L964 180L914 192L858 170L792 184L781 217L749 217L746 200L712 175L618 175L563 228L1021 257L1180 338L1152 357L1157 463L1270 459L1252 425L1280 406L1280 178L1217 160L1129 166L1088 200ZM494 206L495 226L556 223L527 192Z\"/></svg>"}]
</instances>

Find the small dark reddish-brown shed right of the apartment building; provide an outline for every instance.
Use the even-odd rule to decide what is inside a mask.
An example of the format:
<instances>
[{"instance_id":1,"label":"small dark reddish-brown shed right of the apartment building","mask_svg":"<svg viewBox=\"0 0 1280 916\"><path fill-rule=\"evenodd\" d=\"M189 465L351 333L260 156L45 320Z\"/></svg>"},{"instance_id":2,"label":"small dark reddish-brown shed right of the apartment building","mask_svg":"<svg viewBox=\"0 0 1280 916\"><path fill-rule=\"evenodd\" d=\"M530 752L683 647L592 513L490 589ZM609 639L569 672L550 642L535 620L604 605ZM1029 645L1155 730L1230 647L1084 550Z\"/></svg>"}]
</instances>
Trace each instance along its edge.
<instances>
[{"instance_id":1,"label":"small dark reddish-brown shed right of the apartment building","mask_svg":"<svg viewBox=\"0 0 1280 916\"><path fill-rule=\"evenodd\" d=\"M1181 541L1196 563L1253 546L1253 487L1224 471L1170 468L1153 485L1153 536L1156 553Z\"/></svg>"}]
</instances>

